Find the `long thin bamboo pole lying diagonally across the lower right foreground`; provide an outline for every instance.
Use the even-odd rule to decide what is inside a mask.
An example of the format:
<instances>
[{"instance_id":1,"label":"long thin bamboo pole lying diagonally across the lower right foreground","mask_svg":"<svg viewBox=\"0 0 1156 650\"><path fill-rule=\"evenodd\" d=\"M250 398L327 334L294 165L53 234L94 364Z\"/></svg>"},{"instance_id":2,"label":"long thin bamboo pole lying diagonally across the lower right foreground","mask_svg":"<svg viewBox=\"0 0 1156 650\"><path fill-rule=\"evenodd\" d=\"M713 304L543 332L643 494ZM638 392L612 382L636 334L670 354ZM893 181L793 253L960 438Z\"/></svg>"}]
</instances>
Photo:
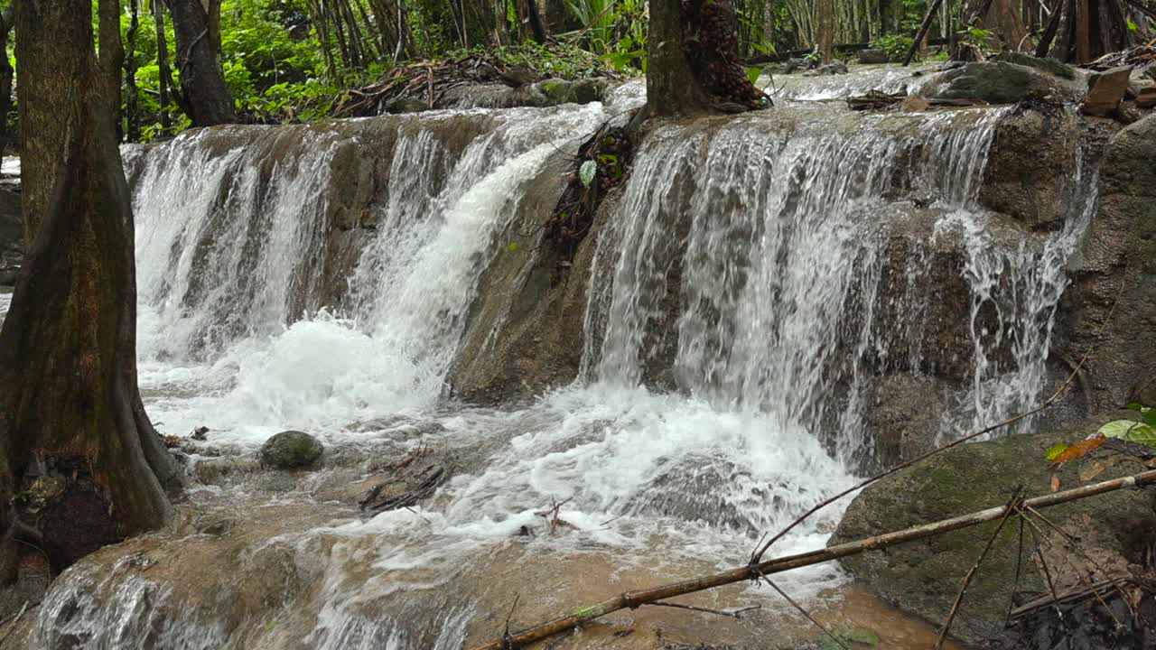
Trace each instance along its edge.
<instances>
[{"instance_id":1,"label":"long thin bamboo pole lying diagonally across the lower right foreground","mask_svg":"<svg viewBox=\"0 0 1156 650\"><path fill-rule=\"evenodd\" d=\"M1090 486L1083 486L1066 492L1057 492L1043 496L1037 496L1035 498L1029 498L1022 502L1022 507L1035 508L1035 509L1050 508L1052 505L1059 505L1061 503L1068 503L1072 501L1087 498L1089 496L1096 496L1099 494L1106 494L1119 489L1138 488L1149 485L1156 485L1156 470L1150 470L1132 477L1125 477L1121 479L1114 479L1111 481L1103 481ZM809 567L812 564L818 564L822 562L829 562L831 560L838 560L840 557L847 557L850 555L857 555L865 551L877 551L880 548L887 548L889 546L895 546L897 544L914 541L918 539L925 539L928 537L934 537L947 532L966 529L978 524L993 522L995 519L1005 517L1009 511L1015 510L1015 505L1016 504L1014 503L1007 505L998 505L995 508L988 508L986 510L980 510L978 512L971 512L969 515L962 515L959 517L953 517L950 519L942 519L940 522L934 522L931 524L922 524L902 531L884 533L868 539L862 539L859 541L850 541L846 544L839 544L837 546L830 546L827 548L821 548L808 553L787 555L785 557L776 557L761 563L751 563L746 567L736 567L734 569L714 574L712 576L704 576L689 581L668 583L638 591L627 591L607 600L602 600L601 603L591 605L588 607L580 607L578 610L575 610L570 614L560 616L557 619L554 619L553 621L534 626L518 634L510 635L503 640L491 641L483 645L479 645L475 650L505 650L510 648L524 648L531 643L554 636L555 634L573 629L584 622L605 616L606 614L609 614L612 612L617 612L620 610L627 610L627 608L633 610L642 605L649 605L652 603L657 603L659 600L674 598L676 596L695 593L697 591L704 591L717 586L734 584L736 582L742 582L746 579L758 579L761 575L779 574L791 569Z\"/></svg>"}]
</instances>

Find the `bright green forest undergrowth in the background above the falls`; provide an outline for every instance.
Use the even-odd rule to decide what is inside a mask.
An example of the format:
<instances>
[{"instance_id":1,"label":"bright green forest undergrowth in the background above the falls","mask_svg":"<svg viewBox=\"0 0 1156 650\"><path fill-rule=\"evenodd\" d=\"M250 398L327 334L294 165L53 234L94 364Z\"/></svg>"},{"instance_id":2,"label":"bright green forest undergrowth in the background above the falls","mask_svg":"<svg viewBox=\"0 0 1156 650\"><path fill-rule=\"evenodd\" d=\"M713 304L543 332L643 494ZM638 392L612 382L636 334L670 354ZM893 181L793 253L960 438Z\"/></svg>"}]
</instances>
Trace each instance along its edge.
<instances>
[{"instance_id":1,"label":"bright green forest undergrowth in the background above the falls","mask_svg":"<svg viewBox=\"0 0 1156 650\"><path fill-rule=\"evenodd\" d=\"M185 1L120 2L124 140L171 136L193 125L180 76L197 43L183 44L173 24ZM851 58L868 46L901 60L929 5L738 0L738 53L753 71L772 58ZM979 39L984 30L959 28L965 8L965 0L940 3L927 40ZM649 14L645 0L213 0L207 40L237 120L283 124L329 117L347 90L418 60L486 57L540 77L642 75ZM1048 13L1037 6L1023 17L1038 34ZM942 45L926 53L946 57Z\"/></svg>"}]
</instances>

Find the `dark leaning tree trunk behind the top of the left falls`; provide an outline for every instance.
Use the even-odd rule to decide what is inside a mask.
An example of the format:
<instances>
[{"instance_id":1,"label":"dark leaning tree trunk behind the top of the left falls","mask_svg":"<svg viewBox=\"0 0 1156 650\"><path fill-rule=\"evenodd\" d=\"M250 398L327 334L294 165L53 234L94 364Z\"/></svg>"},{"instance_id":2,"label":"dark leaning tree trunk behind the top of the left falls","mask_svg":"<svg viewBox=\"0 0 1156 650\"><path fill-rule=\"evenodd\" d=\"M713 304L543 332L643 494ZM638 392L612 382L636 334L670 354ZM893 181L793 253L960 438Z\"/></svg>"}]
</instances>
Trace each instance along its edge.
<instances>
[{"instance_id":1,"label":"dark leaning tree trunk behind the top of the left falls","mask_svg":"<svg viewBox=\"0 0 1156 650\"><path fill-rule=\"evenodd\" d=\"M220 5L210 3L210 8ZM177 69L180 87L194 126L213 126L237 121L232 95L216 47L220 20L205 10L201 0L169 0L172 29L177 37Z\"/></svg>"}]
</instances>

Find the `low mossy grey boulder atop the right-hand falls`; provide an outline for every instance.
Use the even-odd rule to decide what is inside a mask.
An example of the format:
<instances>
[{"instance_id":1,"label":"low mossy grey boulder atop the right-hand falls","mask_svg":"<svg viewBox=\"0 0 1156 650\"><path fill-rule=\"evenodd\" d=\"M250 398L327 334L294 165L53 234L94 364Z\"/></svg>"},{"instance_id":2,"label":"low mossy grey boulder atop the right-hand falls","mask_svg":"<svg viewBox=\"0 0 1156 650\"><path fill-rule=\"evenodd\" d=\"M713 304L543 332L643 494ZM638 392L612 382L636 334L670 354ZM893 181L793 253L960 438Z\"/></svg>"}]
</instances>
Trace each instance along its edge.
<instances>
[{"instance_id":1,"label":"low mossy grey boulder atop the right-hand falls","mask_svg":"<svg viewBox=\"0 0 1156 650\"><path fill-rule=\"evenodd\" d=\"M984 61L949 69L928 82L925 96L1015 104L1029 97L1073 101L1081 89L1069 80L1007 61Z\"/></svg>"}]
</instances>

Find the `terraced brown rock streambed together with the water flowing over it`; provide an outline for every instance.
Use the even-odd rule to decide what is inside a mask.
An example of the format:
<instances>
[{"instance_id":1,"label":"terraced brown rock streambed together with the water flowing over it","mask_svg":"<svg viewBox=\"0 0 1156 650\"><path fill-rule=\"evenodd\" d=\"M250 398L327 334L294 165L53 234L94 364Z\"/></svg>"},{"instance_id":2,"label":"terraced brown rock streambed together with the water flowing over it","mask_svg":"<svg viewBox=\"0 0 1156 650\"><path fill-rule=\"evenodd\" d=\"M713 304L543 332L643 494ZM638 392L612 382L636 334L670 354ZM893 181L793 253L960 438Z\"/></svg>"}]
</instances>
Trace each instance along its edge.
<instances>
[{"instance_id":1,"label":"terraced brown rock streambed together with the water flowing over it","mask_svg":"<svg viewBox=\"0 0 1156 650\"><path fill-rule=\"evenodd\" d=\"M655 126L566 256L541 231L568 155L625 120L637 83L606 104L127 152L142 393L190 489L171 530L87 557L35 607L30 552L30 591L2 606L31 608L0 647L455 650L507 618L742 566L857 475L1039 404L1095 345L1042 416L824 510L775 552L1047 492L1048 444L1156 402L1156 117L1133 99L1084 115L1085 73L1022 64L792 80L771 111ZM1037 93L843 105L880 83ZM261 452L290 428L318 445ZM1104 498L1055 524L1142 574L1150 495ZM852 645L925 649L985 531L777 583ZM1039 596L1043 563L1008 544L953 627L970 647L1006 641L1000 614ZM766 588L680 603L759 608L642 607L555 648L827 648ZM1046 607L1017 621L1055 631Z\"/></svg>"}]
</instances>

